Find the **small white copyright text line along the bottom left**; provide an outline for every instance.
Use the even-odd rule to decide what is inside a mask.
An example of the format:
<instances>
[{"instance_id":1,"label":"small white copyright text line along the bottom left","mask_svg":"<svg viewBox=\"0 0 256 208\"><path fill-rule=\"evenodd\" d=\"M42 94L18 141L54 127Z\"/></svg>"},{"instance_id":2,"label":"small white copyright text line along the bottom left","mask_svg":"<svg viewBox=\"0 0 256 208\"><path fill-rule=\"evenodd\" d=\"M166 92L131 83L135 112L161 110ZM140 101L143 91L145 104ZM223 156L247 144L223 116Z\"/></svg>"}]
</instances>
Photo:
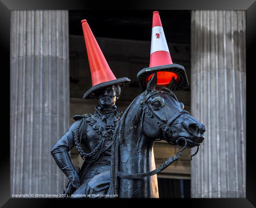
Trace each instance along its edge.
<instances>
[{"instance_id":1,"label":"small white copyright text line along the bottom left","mask_svg":"<svg viewBox=\"0 0 256 208\"><path fill-rule=\"evenodd\" d=\"M28 193L24 193L24 194L12 194L11 197L13 198L63 198L63 197L66 197L65 194L39 194L39 193L36 193L36 194L28 194ZM110 195L110 194L71 194L70 197L89 197L89 198L98 198L98 197L105 197L105 198L108 198L108 197L118 197L117 194L115 195Z\"/></svg>"}]
</instances>

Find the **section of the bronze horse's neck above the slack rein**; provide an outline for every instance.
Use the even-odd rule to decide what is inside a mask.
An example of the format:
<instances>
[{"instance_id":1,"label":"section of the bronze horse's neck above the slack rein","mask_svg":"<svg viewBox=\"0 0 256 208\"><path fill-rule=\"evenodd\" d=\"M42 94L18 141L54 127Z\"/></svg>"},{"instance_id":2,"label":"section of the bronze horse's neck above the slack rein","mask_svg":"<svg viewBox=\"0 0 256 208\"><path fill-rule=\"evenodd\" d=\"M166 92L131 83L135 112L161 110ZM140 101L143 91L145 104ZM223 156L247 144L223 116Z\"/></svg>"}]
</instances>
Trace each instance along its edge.
<instances>
[{"instance_id":1,"label":"section of the bronze horse's neck above the slack rein","mask_svg":"<svg viewBox=\"0 0 256 208\"><path fill-rule=\"evenodd\" d=\"M139 106L141 96L130 106L123 126L123 138L120 143L121 160L127 161L123 165L126 171L147 172L154 166L153 144L154 140L146 137L142 131Z\"/></svg>"}]
</instances>

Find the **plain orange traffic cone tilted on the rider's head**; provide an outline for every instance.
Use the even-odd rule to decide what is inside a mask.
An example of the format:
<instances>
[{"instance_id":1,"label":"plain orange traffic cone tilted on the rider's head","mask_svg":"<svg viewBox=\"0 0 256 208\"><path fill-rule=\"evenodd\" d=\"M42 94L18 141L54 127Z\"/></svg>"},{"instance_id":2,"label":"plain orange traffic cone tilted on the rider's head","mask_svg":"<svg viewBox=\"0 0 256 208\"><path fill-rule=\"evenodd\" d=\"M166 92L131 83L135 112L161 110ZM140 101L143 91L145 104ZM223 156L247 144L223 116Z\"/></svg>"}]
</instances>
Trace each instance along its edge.
<instances>
[{"instance_id":1,"label":"plain orange traffic cone tilted on the rider's head","mask_svg":"<svg viewBox=\"0 0 256 208\"><path fill-rule=\"evenodd\" d=\"M130 82L130 79L116 78L111 69L108 66L100 46L98 45L91 28L86 20L82 20L83 35L85 45L87 49L87 55L89 59L89 65L91 69L91 81L92 87L83 95L83 99L89 99L96 97L97 91L100 88L105 88L113 84L119 84L124 87Z\"/></svg>"}]
</instances>

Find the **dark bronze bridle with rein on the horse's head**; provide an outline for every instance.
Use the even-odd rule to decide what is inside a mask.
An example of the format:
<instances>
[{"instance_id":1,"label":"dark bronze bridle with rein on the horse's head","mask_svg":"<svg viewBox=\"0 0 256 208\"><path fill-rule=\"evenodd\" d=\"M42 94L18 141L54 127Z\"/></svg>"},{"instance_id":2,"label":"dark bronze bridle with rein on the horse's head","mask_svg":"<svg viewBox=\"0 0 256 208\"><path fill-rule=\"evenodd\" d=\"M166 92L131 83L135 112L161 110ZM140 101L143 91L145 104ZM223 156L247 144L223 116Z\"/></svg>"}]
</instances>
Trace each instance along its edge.
<instances>
[{"instance_id":1,"label":"dark bronze bridle with rein on the horse's head","mask_svg":"<svg viewBox=\"0 0 256 208\"><path fill-rule=\"evenodd\" d=\"M180 149L178 151L178 153L172 157L169 157L163 164L161 164L158 168L156 168L155 170L152 170L150 172L146 172L146 173L135 173L135 174L126 174L126 173L122 173L122 172L118 172L117 173L117 176L121 177L121 178L124 178L124 179L137 179L137 178L142 178L142 177L148 177L148 176L152 176L152 175L155 175L159 172L161 172L162 170L164 170L165 168L167 168L170 164L172 164L174 161L177 161L178 159L180 159L180 155L181 155L181 152L183 150L186 149L187 147L187 139L184 138L184 137L179 137L178 136L178 133L174 132L173 130L171 130L171 128L169 127L173 122L174 120L176 120L180 115L182 114L188 114L189 115L189 112L185 111L185 110L181 110L177 113L175 113L166 123L164 123L163 121L161 121L160 119L158 119L158 117L152 113L152 111L150 111L150 109L148 108L147 106L147 100L152 96L152 95L156 95L158 93L165 93L165 94L168 94L168 95L171 95L175 100L178 101L178 99L176 98L176 96L174 95L174 93L172 93L171 91L167 92L167 91L152 91L150 93L147 94L147 96L145 96L143 94L143 99L139 102L139 105L140 107L142 108L142 117L141 117L141 129L143 131L143 119L144 119L144 115L147 114L148 117L150 117L152 119L152 122L156 123L157 126L164 132L163 133L163 137L164 139L169 143L169 144L173 144L173 145L176 145L176 144L179 144L180 140L184 140L185 144L184 144L184 147L182 149ZM145 133L143 132L143 134L145 135ZM176 134L176 137L178 137L178 139L176 140L176 144L169 141L166 137L166 135L175 135ZM147 135L145 135L147 137ZM190 156L190 159L192 160L192 157L194 155L197 154L199 150L199 146L197 146L197 151Z\"/></svg>"}]
</instances>

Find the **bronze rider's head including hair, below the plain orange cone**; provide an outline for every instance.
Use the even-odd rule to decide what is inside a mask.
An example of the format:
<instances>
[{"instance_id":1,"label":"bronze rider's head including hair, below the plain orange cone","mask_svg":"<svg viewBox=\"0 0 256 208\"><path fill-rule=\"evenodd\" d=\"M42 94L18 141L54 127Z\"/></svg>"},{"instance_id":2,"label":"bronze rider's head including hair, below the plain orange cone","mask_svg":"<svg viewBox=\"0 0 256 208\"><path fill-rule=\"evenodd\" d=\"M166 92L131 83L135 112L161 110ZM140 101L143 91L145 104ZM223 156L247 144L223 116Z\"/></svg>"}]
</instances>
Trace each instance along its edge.
<instances>
[{"instance_id":1,"label":"bronze rider's head including hair, below the plain orange cone","mask_svg":"<svg viewBox=\"0 0 256 208\"><path fill-rule=\"evenodd\" d=\"M121 88L118 84L113 84L112 86L108 86L97 91L99 104L103 107L115 105L115 102L119 99L120 95Z\"/></svg>"}]
</instances>

